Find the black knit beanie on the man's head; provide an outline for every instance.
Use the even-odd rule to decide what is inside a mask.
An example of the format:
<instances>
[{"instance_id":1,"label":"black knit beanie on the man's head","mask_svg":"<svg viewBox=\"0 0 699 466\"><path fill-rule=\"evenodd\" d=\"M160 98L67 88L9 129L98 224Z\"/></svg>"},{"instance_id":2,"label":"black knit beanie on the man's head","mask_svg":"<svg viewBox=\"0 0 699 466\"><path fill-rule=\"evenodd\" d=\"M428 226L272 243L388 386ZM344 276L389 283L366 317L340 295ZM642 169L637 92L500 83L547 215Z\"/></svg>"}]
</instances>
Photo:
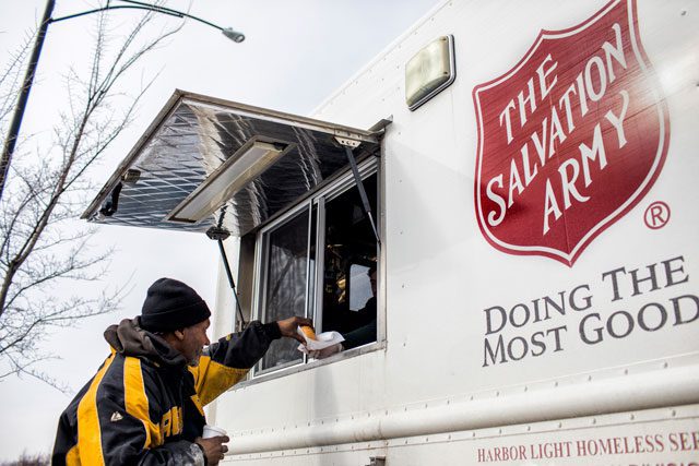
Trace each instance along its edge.
<instances>
[{"instance_id":1,"label":"black knit beanie on the man's head","mask_svg":"<svg viewBox=\"0 0 699 466\"><path fill-rule=\"evenodd\" d=\"M149 288L140 322L150 332L171 332L205 321L210 315L197 291L176 279L161 278Z\"/></svg>"}]
</instances>

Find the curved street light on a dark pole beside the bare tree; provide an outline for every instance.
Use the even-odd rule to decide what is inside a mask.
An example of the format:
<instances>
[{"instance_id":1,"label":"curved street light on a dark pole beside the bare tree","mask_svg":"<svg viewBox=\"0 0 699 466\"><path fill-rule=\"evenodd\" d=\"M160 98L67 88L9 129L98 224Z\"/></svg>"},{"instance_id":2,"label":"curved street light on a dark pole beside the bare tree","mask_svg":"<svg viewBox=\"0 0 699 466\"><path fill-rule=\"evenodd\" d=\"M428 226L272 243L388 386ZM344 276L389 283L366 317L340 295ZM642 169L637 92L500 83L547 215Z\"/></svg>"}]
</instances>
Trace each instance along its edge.
<instances>
[{"instance_id":1,"label":"curved street light on a dark pole beside the bare tree","mask_svg":"<svg viewBox=\"0 0 699 466\"><path fill-rule=\"evenodd\" d=\"M12 154L14 154L14 146L16 145L17 136L20 134L20 128L22 127L22 118L24 117L24 110L26 108L26 103L29 98L29 92L32 91L32 84L34 83L34 74L36 73L36 67L39 61L39 56L42 55L42 47L44 47L44 38L46 37L46 33L48 31L48 25L51 23L57 23L59 21L70 20L78 16L84 16L91 13L97 13L106 10L119 10L119 9L131 9L131 10L147 10L153 11L155 13L163 13L170 16L177 17L188 17L194 21L198 21L208 26L214 27L221 33L235 43L241 43L245 40L245 35L234 31L230 27L221 27L214 23L211 23L206 20L202 20L201 17L193 16L189 13L185 13L181 11L173 10L165 7L159 7L151 3L144 3L135 0L120 0L125 3L129 3L128 5L111 5L107 2L106 7L98 8L95 10L83 11L81 13L71 14L68 16L61 17L51 17L54 13L54 7L56 7L56 0L47 0L46 1L46 10L44 11L44 19L42 20L42 25L39 27L38 34L36 36L36 40L34 41L34 49L32 50L32 57L29 58L29 64L26 69L26 74L24 76L24 82L22 83L22 91L20 92L20 97L17 99L17 105L14 108L14 115L12 116L12 122L10 123L10 130L8 131L8 136L4 140L4 147L2 150L2 158L0 159L0 200L2 199L2 194L4 192L4 182L8 177L8 172L10 171L10 162L12 160Z\"/></svg>"}]
</instances>

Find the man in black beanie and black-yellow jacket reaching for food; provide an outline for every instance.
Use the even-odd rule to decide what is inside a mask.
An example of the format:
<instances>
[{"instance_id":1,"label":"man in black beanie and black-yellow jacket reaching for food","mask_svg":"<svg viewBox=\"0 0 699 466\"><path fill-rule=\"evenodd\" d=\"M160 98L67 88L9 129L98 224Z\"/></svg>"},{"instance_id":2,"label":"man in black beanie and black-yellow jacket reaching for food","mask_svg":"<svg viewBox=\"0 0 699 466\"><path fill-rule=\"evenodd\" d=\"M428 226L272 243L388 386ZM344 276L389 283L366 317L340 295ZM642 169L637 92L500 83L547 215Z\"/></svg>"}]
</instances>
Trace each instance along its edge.
<instances>
[{"instance_id":1,"label":"man in black beanie and black-yellow jacket reaching for food","mask_svg":"<svg viewBox=\"0 0 699 466\"><path fill-rule=\"evenodd\" d=\"M155 282L140 316L105 331L111 354L62 413L52 464L217 464L228 438L201 438L203 406L242 379L272 340L301 342L296 327L311 322L254 321L210 345L210 315L189 286Z\"/></svg>"}]
</instances>

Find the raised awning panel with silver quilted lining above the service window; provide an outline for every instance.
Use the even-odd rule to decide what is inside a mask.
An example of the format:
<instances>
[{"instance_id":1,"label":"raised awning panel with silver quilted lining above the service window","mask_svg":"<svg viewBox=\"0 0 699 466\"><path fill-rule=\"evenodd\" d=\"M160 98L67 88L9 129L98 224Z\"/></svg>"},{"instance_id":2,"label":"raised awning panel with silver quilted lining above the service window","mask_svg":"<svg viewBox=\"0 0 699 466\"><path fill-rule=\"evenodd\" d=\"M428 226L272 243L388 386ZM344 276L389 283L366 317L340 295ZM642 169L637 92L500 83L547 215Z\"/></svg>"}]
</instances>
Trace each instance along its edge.
<instances>
[{"instance_id":1,"label":"raised awning panel with silver quilted lining above the service window","mask_svg":"<svg viewBox=\"0 0 699 466\"><path fill-rule=\"evenodd\" d=\"M358 144L357 159L379 153L369 131L176 91L82 217L241 236L347 167L337 139ZM213 212L175 214L197 202Z\"/></svg>"}]
</instances>

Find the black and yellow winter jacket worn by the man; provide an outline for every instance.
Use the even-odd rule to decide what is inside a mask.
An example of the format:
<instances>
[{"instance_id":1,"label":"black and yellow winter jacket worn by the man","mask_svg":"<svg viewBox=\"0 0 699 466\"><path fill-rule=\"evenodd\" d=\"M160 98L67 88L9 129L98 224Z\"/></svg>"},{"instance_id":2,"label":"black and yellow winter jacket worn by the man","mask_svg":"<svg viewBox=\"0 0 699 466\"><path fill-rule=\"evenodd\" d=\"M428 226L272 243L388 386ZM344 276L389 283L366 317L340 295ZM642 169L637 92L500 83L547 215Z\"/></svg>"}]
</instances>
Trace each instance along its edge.
<instances>
[{"instance_id":1,"label":"black and yellow winter jacket worn by the man","mask_svg":"<svg viewBox=\"0 0 699 466\"><path fill-rule=\"evenodd\" d=\"M203 406L246 375L281 337L251 322L204 349L199 366L159 336L123 320L105 332L111 354L60 417L54 465L203 465L193 443Z\"/></svg>"}]
</instances>

